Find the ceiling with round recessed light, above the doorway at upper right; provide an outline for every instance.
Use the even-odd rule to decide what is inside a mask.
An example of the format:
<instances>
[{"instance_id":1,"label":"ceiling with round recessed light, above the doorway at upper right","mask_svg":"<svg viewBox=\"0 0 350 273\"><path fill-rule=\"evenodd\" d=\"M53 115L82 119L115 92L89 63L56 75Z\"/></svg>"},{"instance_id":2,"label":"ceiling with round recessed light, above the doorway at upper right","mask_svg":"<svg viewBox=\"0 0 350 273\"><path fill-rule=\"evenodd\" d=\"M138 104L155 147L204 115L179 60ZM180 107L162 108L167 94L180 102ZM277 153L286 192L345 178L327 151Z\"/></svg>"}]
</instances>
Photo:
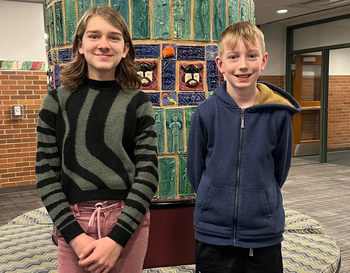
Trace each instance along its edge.
<instances>
[{"instance_id":1,"label":"ceiling with round recessed light, above the doorway at upper right","mask_svg":"<svg viewBox=\"0 0 350 273\"><path fill-rule=\"evenodd\" d=\"M45 0L9 1L45 3ZM288 9L288 12L278 14L279 9ZM350 0L255 0L257 25L299 24L344 14L350 14Z\"/></svg>"}]
</instances>

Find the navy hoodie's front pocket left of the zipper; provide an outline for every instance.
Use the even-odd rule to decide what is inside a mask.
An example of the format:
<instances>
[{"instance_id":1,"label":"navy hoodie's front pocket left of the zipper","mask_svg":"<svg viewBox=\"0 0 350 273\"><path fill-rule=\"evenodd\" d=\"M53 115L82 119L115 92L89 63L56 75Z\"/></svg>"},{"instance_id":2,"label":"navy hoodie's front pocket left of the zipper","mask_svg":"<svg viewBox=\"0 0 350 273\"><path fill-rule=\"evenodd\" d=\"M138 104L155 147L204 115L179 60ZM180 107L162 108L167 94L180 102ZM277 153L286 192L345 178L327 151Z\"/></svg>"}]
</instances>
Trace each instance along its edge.
<instances>
[{"instance_id":1,"label":"navy hoodie's front pocket left of the zipper","mask_svg":"<svg viewBox=\"0 0 350 273\"><path fill-rule=\"evenodd\" d=\"M195 213L195 224L216 234L230 233L233 227L233 194L234 188L209 187L203 204Z\"/></svg>"}]
</instances>

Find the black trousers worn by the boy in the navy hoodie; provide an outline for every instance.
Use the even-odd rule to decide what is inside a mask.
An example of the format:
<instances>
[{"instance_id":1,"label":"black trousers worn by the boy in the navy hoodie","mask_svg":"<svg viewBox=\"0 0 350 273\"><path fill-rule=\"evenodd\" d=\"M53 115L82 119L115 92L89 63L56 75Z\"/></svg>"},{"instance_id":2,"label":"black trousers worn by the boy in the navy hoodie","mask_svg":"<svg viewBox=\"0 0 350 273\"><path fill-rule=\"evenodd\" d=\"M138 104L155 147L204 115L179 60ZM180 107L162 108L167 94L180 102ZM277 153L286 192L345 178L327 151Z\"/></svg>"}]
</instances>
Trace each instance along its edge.
<instances>
[{"instance_id":1,"label":"black trousers worn by the boy in the navy hoodie","mask_svg":"<svg viewBox=\"0 0 350 273\"><path fill-rule=\"evenodd\" d=\"M283 273L281 244L249 249L197 240L196 273Z\"/></svg>"}]
</instances>

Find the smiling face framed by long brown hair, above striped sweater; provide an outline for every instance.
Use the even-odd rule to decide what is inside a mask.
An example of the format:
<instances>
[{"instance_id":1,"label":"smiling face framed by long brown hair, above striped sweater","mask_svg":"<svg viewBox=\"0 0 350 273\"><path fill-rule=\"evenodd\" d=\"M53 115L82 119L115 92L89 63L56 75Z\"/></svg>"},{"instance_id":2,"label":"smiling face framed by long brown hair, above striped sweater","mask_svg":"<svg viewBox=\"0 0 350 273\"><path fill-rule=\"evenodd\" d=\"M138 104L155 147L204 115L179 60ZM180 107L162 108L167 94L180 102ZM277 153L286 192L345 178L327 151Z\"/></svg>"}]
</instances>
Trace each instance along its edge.
<instances>
[{"instance_id":1,"label":"smiling face framed by long brown hair, above striped sweater","mask_svg":"<svg viewBox=\"0 0 350 273\"><path fill-rule=\"evenodd\" d=\"M129 51L121 31L95 15L87 23L78 51L84 55L88 66L88 78L115 80L115 70Z\"/></svg>"}]
</instances>

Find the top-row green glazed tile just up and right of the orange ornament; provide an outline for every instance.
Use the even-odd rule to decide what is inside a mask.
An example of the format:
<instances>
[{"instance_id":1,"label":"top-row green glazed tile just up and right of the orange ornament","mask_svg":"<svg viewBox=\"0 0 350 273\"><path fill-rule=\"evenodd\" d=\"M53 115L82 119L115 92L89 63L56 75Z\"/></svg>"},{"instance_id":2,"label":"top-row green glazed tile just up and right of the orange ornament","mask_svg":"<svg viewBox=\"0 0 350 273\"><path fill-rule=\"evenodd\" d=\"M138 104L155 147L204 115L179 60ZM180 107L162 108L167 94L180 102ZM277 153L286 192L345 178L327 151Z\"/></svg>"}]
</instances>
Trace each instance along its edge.
<instances>
[{"instance_id":1,"label":"top-row green glazed tile just up and right of the orange ornament","mask_svg":"<svg viewBox=\"0 0 350 273\"><path fill-rule=\"evenodd\" d=\"M173 34L175 40L191 39L191 0L174 0Z\"/></svg>"}]
</instances>

